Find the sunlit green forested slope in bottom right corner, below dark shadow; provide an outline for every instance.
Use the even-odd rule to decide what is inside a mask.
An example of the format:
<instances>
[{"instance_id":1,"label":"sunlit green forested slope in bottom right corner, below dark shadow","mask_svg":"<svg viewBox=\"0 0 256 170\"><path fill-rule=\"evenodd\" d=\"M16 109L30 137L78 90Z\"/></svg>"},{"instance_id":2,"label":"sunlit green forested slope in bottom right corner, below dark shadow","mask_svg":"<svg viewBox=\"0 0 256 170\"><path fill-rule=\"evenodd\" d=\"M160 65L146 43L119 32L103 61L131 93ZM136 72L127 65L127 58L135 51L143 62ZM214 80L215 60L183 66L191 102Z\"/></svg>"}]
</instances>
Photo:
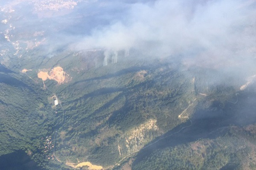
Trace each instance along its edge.
<instances>
[{"instance_id":1,"label":"sunlit green forested slope in bottom right corner, below dark shadow","mask_svg":"<svg viewBox=\"0 0 256 170\"><path fill-rule=\"evenodd\" d=\"M255 135L239 127L224 130L214 139L159 149L133 169L255 169Z\"/></svg>"}]
</instances>

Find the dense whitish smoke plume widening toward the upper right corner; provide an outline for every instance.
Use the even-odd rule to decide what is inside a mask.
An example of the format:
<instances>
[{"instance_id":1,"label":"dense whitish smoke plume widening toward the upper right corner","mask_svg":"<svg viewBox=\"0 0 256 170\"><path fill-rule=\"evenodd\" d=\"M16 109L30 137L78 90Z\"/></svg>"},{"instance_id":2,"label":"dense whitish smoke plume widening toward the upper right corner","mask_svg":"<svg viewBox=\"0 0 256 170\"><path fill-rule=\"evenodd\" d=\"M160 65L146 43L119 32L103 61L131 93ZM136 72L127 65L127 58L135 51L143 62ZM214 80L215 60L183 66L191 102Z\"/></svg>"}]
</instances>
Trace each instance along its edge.
<instances>
[{"instance_id":1,"label":"dense whitish smoke plume widening toward the upper right corner","mask_svg":"<svg viewBox=\"0 0 256 170\"><path fill-rule=\"evenodd\" d=\"M119 3L124 4L126 8L119 11L118 18L112 15L109 24L91 28L90 35L71 48L136 49L146 56L189 56L188 63L200 60L216 67L255 59L255 1ZM106 8L111 5L113 1L104 2Z\"/></svg>"}]
</instances>

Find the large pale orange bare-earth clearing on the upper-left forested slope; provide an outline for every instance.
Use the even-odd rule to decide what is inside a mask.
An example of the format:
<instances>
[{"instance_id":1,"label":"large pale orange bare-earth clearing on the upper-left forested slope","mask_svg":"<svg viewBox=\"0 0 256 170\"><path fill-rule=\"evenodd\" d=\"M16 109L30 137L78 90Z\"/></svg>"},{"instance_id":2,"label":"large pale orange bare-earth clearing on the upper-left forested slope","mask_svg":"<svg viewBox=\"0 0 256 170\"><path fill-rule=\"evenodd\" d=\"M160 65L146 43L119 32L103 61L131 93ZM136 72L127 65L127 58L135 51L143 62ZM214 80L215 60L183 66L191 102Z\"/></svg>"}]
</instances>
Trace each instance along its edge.
<instances>
[{"instance_id":1,"label":"large pale orange bare-earth clearing on the upper-left forested slope","mask_svg":"<svg viewBox=\"0 0 256 170\"><path fill-rule=\"evenodd\" d=\"M65 71L63 71L63 68L61 67L54 67L53 69L51 69L50 75L48 74L48 72L43 71L40 71L37 75L38 78L41 78L43 81L46 81L47 78L49 78L50 80L57 81L58 84L64 83L64 81L68 77L68 74L65 73Z\"/></svg>"}]
</instances>

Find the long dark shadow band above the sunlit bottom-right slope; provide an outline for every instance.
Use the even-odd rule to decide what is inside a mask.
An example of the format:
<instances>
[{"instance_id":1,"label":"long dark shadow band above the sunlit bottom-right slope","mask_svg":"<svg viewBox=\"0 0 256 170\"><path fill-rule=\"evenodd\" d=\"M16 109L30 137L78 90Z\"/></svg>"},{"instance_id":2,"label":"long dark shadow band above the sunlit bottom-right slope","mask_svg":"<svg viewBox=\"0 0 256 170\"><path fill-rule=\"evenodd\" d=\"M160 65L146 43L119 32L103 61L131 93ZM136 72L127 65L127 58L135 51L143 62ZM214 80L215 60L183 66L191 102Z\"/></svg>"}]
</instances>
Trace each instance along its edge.
<instances>
[{"instance_id":1,"label":"long dark shadow band above the sunlit bottom-right slope","mask_svg":"<svg viewBox=\"0 0 256 170\"><path fill-rule=\"evenodd\" d=\"M191 119L192 125L187 121L146 145L138 152L134 165L156 150L175 147L201 138L214 139L225 135L230 125L245 126L255 123L255 101L255 93L241 92L236 104L226 101L225 106L222 107L220 102L214 101L206 109L198 108Z\"/></svg>"}]
</instances>

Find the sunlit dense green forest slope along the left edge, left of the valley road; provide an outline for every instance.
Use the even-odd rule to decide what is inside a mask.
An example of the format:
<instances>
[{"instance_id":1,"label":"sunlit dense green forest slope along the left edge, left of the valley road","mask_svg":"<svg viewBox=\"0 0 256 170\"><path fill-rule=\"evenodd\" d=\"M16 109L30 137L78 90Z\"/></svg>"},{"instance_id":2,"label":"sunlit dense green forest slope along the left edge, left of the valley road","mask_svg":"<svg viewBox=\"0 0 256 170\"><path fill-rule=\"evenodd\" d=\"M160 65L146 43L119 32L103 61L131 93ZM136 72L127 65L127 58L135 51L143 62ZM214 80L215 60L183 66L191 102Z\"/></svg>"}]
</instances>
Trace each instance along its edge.
<instances>
[{"instance_id":1,"label":"sunlit dense green forest slope along the left edge, left of the valley road","mask_svg":"<svg viewBox=\"0 0 256 170\"><path fill-rule=\"evenodd\" d=\"M48 91L37 88L26 76L1 69L0 155L24 150L38 165L48 167L43 154L45 137L58 124L48 102ZM8 73L9 72L9 73Z\"/></svg>"}]
</instances>

